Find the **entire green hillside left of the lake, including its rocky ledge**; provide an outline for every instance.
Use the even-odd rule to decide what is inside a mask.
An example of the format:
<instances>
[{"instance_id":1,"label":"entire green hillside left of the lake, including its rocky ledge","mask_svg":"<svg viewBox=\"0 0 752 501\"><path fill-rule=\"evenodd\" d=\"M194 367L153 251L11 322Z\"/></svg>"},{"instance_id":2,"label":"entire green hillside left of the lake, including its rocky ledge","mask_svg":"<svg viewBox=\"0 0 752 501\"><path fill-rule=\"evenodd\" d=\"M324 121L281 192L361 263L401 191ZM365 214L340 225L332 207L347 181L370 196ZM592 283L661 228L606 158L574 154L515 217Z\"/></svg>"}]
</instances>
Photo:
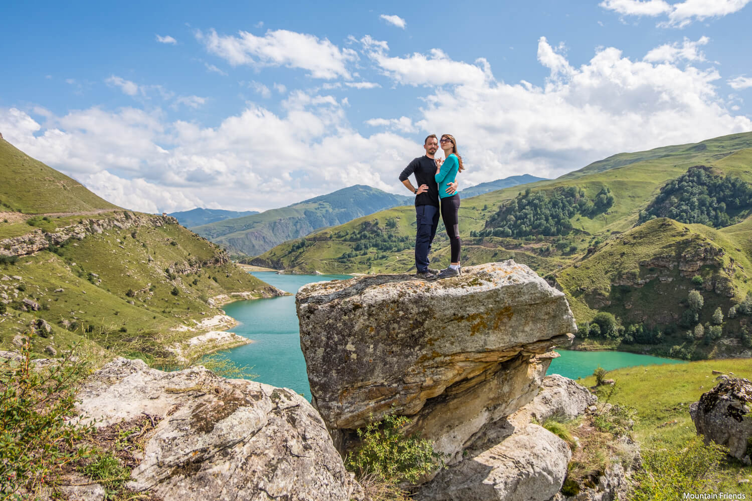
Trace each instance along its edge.
<instances>
[{"instance_id":1,"label":"entire green hillside left of the lake, including its rocky ledge","mask_svg":"<svg viewBox=\"0 0 752 501\"><path fill-rule=\"evenodd\" d=\"M222 315L232 297L278 293L176 219L117 209L7 142L0 146L5 199L38 213L0 219L0 349L17 349L35 329L38 354L86 340L163 361L168 346L212 330L202 321ZM43 176L29 179L32 167ZM29 184L33 190L23 188Z\"/></svg>"}]
</instances>

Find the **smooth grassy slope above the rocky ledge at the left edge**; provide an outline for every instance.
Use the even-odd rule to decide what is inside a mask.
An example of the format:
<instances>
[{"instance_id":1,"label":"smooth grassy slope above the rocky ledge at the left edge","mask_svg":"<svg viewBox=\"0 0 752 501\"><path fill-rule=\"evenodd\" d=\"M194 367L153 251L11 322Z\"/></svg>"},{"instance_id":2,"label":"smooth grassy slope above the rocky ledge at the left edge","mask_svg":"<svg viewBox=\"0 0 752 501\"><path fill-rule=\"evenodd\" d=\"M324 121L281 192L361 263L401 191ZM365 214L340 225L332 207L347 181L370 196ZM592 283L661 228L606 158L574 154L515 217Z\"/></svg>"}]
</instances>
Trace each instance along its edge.
<instances>
[{"instance_id":1,"label":"smooth grassy slope above the rocky ledge at the left edge","mask_svg":"<svg viewBox=\"0 0 752 501\"><path fill-rule=\"evenodd\" d=\"M24 213L72 213L114 210L83 185L0 139L0 202Z\"/></svg>"}]
</instances>

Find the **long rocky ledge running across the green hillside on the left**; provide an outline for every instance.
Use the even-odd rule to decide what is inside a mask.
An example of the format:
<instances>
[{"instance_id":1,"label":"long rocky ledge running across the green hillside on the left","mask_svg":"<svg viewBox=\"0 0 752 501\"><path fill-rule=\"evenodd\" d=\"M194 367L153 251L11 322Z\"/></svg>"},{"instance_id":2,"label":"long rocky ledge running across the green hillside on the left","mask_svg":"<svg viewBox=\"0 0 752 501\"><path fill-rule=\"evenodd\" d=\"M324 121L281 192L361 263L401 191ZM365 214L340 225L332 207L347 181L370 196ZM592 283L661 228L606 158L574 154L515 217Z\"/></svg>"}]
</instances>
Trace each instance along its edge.
<instances>
[{"instance_id":1,"label":"long rocky ledge running across the green hillside on the left","mask_svg":"<svg viewBox=\"0 0 752 501\"><path fill-rule=\"evenodd\" d=\"M20 237L0 240L0 255L21 256L38 252L48 246L58 246L71 238L83 240L86 235L100 234L111 228L131 228L134 226L163 226L177 225L177 219L172 216L153 216L151 214L132 213L127 210L108 214L107 217L87 219L82 217L80 222L55 231L43 231L40 228L29 227L29 233ZM229 259L229 258L228 258Z\"/></svg>"}]
</instances>

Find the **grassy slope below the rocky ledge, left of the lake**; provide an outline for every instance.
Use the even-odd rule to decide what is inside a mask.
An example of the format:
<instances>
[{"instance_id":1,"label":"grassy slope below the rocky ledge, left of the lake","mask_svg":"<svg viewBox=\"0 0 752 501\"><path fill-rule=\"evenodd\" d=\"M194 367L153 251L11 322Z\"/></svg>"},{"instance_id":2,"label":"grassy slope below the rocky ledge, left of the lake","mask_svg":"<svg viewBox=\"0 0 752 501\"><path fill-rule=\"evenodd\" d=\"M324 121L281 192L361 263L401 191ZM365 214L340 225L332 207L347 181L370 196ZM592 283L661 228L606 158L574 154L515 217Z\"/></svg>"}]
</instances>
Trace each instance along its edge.
<instances>
[{"instance_id":1,"label":"grassy slope below the rocky ledge, left of the lake","mask_svg":"<svg viewBox=\"0 0 752 501\"><path fill-rule=\"evenodd\" d=\"M92 326L86 337L105 348L149 355L196 335L184 332L184 327L195 327L195 321L219 315L221 310L209 306L209 298L233 291L261 294L268 290L267 284L231 262L208 264L171 279L165 270L175 264L211 261L218 252L216 246L179 225L141 227L135 238L131 231L105 231L63 246L60 255L43 251L0 266L5 276L22 278L2 282L9 287L5 293L14 301L11 306L25 297L43 305L38 312L20 316L17 308L9 309L10 315L0 322L0 346L11 348L12 338L26 330L33 316L44 318L54 330L53 339L38 340L38 351L47 344L63 348L74 339L71 331L80 335L86 326ZM92 283L90 273L96 273L102 282L92 277ZM55 292L59 288L63 291ZM177 296L171 294L173 288L177 288ZM126 296L129 289L136 291L134 297ZM63 321L75 321L77 327L67 330Z\"/></svg>"}]
</instances>

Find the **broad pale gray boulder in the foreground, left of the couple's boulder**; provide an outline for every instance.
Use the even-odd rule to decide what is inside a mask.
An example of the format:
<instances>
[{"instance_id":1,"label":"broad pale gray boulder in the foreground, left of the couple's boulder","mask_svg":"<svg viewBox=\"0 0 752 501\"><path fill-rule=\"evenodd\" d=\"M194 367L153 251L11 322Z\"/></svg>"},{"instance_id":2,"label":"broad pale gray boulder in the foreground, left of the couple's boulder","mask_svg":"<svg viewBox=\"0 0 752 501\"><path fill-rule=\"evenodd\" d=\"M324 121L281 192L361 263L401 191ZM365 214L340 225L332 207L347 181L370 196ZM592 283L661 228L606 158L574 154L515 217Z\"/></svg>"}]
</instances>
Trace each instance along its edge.
<instances>
[{"instance_id":1,"label":"broad pale gray boulder in the foreground, left of the couple's boulder","mask_svg":"<svg viewBox=\"0 0 752 501\"><path fill-rule=\"evenodd\" d=\"M362 499L323 421L292 390L118 358L78 397L98 427L144 414L159 421L132 471L132 490L197 501Z\"/></svg>"}]
</instances>

